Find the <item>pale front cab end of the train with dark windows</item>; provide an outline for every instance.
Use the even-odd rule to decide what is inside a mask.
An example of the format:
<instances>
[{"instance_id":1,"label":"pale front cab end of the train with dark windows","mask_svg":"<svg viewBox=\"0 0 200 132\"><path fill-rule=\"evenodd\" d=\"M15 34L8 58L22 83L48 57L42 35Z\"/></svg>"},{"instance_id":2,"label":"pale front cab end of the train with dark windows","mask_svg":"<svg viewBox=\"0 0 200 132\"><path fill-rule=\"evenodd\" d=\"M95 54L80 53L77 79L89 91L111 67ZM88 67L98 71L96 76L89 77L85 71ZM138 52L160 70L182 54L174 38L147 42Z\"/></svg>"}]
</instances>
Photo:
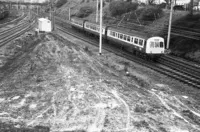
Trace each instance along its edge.
<instances>
[{"instance_id":1,"label":"pale front cab end of the train with dark windows","mask_svg":"<svg viewBox=\"0 0 200 132\"><path fill-rule=\"evenodd\" d=\"M161 55L164 55L164 39L162 37L151 37L147 39L146 54L153 57L153 59L158 59Z\"/></svg>"}]
</instances>

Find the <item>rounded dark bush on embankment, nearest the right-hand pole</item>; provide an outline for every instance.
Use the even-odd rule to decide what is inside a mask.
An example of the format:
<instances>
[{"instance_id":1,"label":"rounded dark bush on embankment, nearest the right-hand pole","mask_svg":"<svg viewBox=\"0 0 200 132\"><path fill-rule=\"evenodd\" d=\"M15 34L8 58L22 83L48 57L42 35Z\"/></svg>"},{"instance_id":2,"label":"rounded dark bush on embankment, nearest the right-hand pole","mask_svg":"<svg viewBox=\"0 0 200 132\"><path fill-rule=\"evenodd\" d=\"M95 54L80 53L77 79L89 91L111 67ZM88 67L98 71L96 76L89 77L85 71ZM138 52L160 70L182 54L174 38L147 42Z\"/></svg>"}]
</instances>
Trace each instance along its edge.
<instances>
[{"instance_id":1,"label":"rounded dark bush on embankment, nearest the right-hand pole","mask_svg":"<svg viewBox=\"0 0 200 132\"><path fill-rule=\"evenodd\" d=\"M138 13L138 12L137 12ZM142 8L139 12L139 19L145 21L153 21L162 16L162 9L156 6L147 6Z\"/></svg>"}]
</instances>

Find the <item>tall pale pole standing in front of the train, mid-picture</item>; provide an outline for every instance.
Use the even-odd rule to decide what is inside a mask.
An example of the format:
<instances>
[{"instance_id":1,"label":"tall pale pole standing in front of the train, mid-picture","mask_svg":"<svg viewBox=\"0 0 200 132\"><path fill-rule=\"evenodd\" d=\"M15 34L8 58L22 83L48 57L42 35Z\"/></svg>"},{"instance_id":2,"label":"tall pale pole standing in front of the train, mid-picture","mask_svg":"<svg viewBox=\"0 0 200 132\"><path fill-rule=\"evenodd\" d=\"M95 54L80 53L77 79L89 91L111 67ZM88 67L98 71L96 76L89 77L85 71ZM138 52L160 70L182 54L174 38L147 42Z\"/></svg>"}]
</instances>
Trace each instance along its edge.
<instances>
[{"instance_id":1,"label":"tall pale pole standing in front of the train, mid-picture","mask_svg":"<svg viewBox=\"0 0 200 132\"><path fill-rule=\"evenodd\" d=\"M102 21L103 19L103 0L101 0L100 3L100 35L99 35L99 55L101 55L101 49L102 49Z\"/></svg>"}]
</instances>

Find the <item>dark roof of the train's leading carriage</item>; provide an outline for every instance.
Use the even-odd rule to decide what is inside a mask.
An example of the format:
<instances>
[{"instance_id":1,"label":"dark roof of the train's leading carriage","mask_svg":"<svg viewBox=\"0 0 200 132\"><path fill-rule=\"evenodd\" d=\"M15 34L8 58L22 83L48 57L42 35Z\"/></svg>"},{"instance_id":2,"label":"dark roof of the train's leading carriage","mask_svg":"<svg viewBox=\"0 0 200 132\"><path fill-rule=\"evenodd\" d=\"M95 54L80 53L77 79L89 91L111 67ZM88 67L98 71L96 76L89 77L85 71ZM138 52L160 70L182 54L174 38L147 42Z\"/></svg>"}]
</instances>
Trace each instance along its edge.
<instances>
[{"instance_id":1,"label":"dark roof of the train's leading carriage","mask_svg":"<svg viewBox=\"0 0 200 132\"><path fill-rule=\"evenodd\" d=\"M130 36L137 36L137 37L141 37L144 39L148 39L149 37L151 37L150 35L148 35L146 33L142 33L142 32L135 31L135 30L130 30L130 29L126 29L126 28L121 28L121 27L110 26L110 27L108 27L108 30L124 33L124 34L130 35Z\"/></svg>"}]
</instances>

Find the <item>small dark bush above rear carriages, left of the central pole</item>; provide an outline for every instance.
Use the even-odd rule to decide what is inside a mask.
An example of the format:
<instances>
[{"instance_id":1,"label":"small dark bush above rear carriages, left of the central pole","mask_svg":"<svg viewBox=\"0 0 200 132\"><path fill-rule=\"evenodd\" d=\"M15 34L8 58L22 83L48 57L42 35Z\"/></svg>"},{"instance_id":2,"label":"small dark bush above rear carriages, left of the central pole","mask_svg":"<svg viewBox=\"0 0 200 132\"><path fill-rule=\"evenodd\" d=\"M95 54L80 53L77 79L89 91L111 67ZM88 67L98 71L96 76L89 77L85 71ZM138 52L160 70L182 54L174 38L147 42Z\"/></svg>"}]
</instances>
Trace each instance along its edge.
<instances>
[{"instance_id":1,"label":"small dark bush above rear carriages, left of the central pole","mask_svg":"<svg viewBox=\"0 0 200 132\"><path fill-rule=\"evenodd\" d=\"M77 17L83 18L89 16L93 12L93 8L90 6L82 7L76 14Z\"/></svg>"}]
</instances>

